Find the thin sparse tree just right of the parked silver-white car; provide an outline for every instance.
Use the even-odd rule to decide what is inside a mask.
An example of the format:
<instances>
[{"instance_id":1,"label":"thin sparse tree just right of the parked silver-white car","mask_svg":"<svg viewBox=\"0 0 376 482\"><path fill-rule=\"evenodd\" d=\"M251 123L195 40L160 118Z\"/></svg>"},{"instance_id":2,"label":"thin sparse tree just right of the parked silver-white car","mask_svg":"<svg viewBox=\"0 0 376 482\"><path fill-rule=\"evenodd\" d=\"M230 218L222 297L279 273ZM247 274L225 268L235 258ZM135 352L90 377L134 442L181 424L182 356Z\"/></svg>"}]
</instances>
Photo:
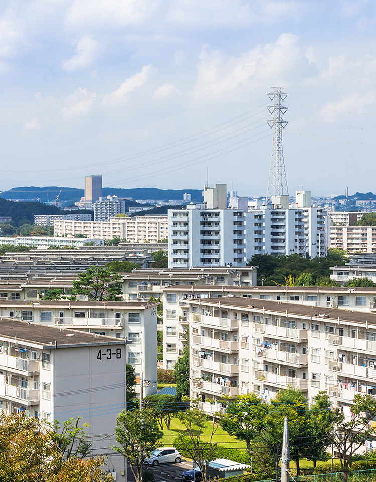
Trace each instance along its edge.
<instances>
[{"instance_id":1,"label":"thin sparse tree just right of the parked silver-white car","mask_svg":"<svg viewBox=\"0 0 376 482\"><path fill-rule=\"evenodd\" d=\"M205 442L201 440L201 432L205 427L208 416L202 410L197 407L185 412L178 412L177 418L184 426L184 430L178 433L180 442L190 458L194 460L201 471L203 482L209 480L207 473L208 464L215 458L217 443L213 442L213 436L217 431L218 425L212 423L211 433L209 439Z\"/></svg>"}]
</instances>

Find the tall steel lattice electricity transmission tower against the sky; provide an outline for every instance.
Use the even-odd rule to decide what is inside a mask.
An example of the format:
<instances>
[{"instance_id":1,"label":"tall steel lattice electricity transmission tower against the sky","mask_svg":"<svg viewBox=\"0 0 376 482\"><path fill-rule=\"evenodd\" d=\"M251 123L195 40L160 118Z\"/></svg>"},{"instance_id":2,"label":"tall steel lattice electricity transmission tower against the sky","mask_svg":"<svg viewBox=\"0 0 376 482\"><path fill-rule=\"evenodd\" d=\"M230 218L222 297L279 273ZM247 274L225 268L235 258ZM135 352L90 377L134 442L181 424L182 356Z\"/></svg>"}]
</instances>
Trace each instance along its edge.
<instances>
[{"instance_id":1,"label":"tall steel lattice electricity transmission tower against the sky","mask_svg":"<svg viewBox=\"0 0 376 482\"><path fill-rule=\"evenodd\" d=\"M282 149L282 129L287 125L287 121L282 118L286 113L287 107L283 106L282 102L287 97L287 94L282 92L282 87L272 87L272 89L273 92L268 93L270 100L273 101L273 105L268 107L269 112L273 115L273 118L268 121L269 127L273 129L273 148L272 159L270 161L268 191L266 193L267 204L273 195L288 196L289 194Z\"/></svg>"}]
</instances>

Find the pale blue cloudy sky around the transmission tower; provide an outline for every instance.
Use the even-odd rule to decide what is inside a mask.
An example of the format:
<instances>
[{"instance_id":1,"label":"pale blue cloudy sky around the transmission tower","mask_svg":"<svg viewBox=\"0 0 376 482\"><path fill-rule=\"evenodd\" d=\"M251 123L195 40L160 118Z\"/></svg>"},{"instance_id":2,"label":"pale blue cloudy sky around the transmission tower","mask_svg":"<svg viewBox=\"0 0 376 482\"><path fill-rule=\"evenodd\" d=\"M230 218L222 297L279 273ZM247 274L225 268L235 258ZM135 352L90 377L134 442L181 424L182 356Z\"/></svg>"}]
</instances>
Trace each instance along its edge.
<instances>
[{"instance_id":1,"label":"pale blue cloudy sky around the transmission tower","mask_svg":"<svg viewBox=\"0 0 376 482\"><path fill-rule=\"evenodd\" d=\"M376 192L373 0L3 0L0 189Z\"/></svg>"}]
</instances>

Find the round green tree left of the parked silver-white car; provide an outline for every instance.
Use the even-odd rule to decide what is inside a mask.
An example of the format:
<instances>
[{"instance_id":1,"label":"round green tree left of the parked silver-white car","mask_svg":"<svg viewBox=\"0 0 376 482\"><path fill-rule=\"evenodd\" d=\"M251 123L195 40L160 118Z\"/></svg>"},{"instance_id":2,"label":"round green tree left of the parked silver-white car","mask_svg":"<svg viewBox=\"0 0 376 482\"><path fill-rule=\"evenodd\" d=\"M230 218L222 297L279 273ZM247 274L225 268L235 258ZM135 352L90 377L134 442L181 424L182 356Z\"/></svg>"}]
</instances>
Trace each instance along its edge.
<instances>
[{"instance_id":1,"label":"round green tree left of the parked silver-white car","mask_svg":"<svg viewBox=\"0 0 376 482\"><path fill-rule=\"evenodd\" d=\"M116 419L115 438L119 446L112 447L128 459L136 482L142 482L143 462L155 450L163 437L150 408L121 412Z\"/></svg>"}]
</instances>

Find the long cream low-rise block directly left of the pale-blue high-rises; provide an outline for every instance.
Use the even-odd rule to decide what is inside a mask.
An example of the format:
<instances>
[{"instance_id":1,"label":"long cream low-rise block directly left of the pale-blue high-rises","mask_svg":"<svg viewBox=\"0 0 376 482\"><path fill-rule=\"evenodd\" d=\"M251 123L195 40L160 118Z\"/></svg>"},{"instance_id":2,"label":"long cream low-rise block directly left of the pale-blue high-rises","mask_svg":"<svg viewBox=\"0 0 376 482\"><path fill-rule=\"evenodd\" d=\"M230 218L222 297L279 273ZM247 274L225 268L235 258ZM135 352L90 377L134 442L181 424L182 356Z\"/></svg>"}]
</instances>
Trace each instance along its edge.
<instances>
[{"instance_id":1,"label":"long cream low-rise block directly left of the pale-blue high-rises","mask_svg":"<svg viewBox=\"0 0 376 482\"><path fill-rule=\"evenodd\" d=\"M54 236L85 234L94 239L125 239L130 243L157 243L167 237L167 217L111 217L109 221L55 221Z\"/></svg>"}]
</instances>

